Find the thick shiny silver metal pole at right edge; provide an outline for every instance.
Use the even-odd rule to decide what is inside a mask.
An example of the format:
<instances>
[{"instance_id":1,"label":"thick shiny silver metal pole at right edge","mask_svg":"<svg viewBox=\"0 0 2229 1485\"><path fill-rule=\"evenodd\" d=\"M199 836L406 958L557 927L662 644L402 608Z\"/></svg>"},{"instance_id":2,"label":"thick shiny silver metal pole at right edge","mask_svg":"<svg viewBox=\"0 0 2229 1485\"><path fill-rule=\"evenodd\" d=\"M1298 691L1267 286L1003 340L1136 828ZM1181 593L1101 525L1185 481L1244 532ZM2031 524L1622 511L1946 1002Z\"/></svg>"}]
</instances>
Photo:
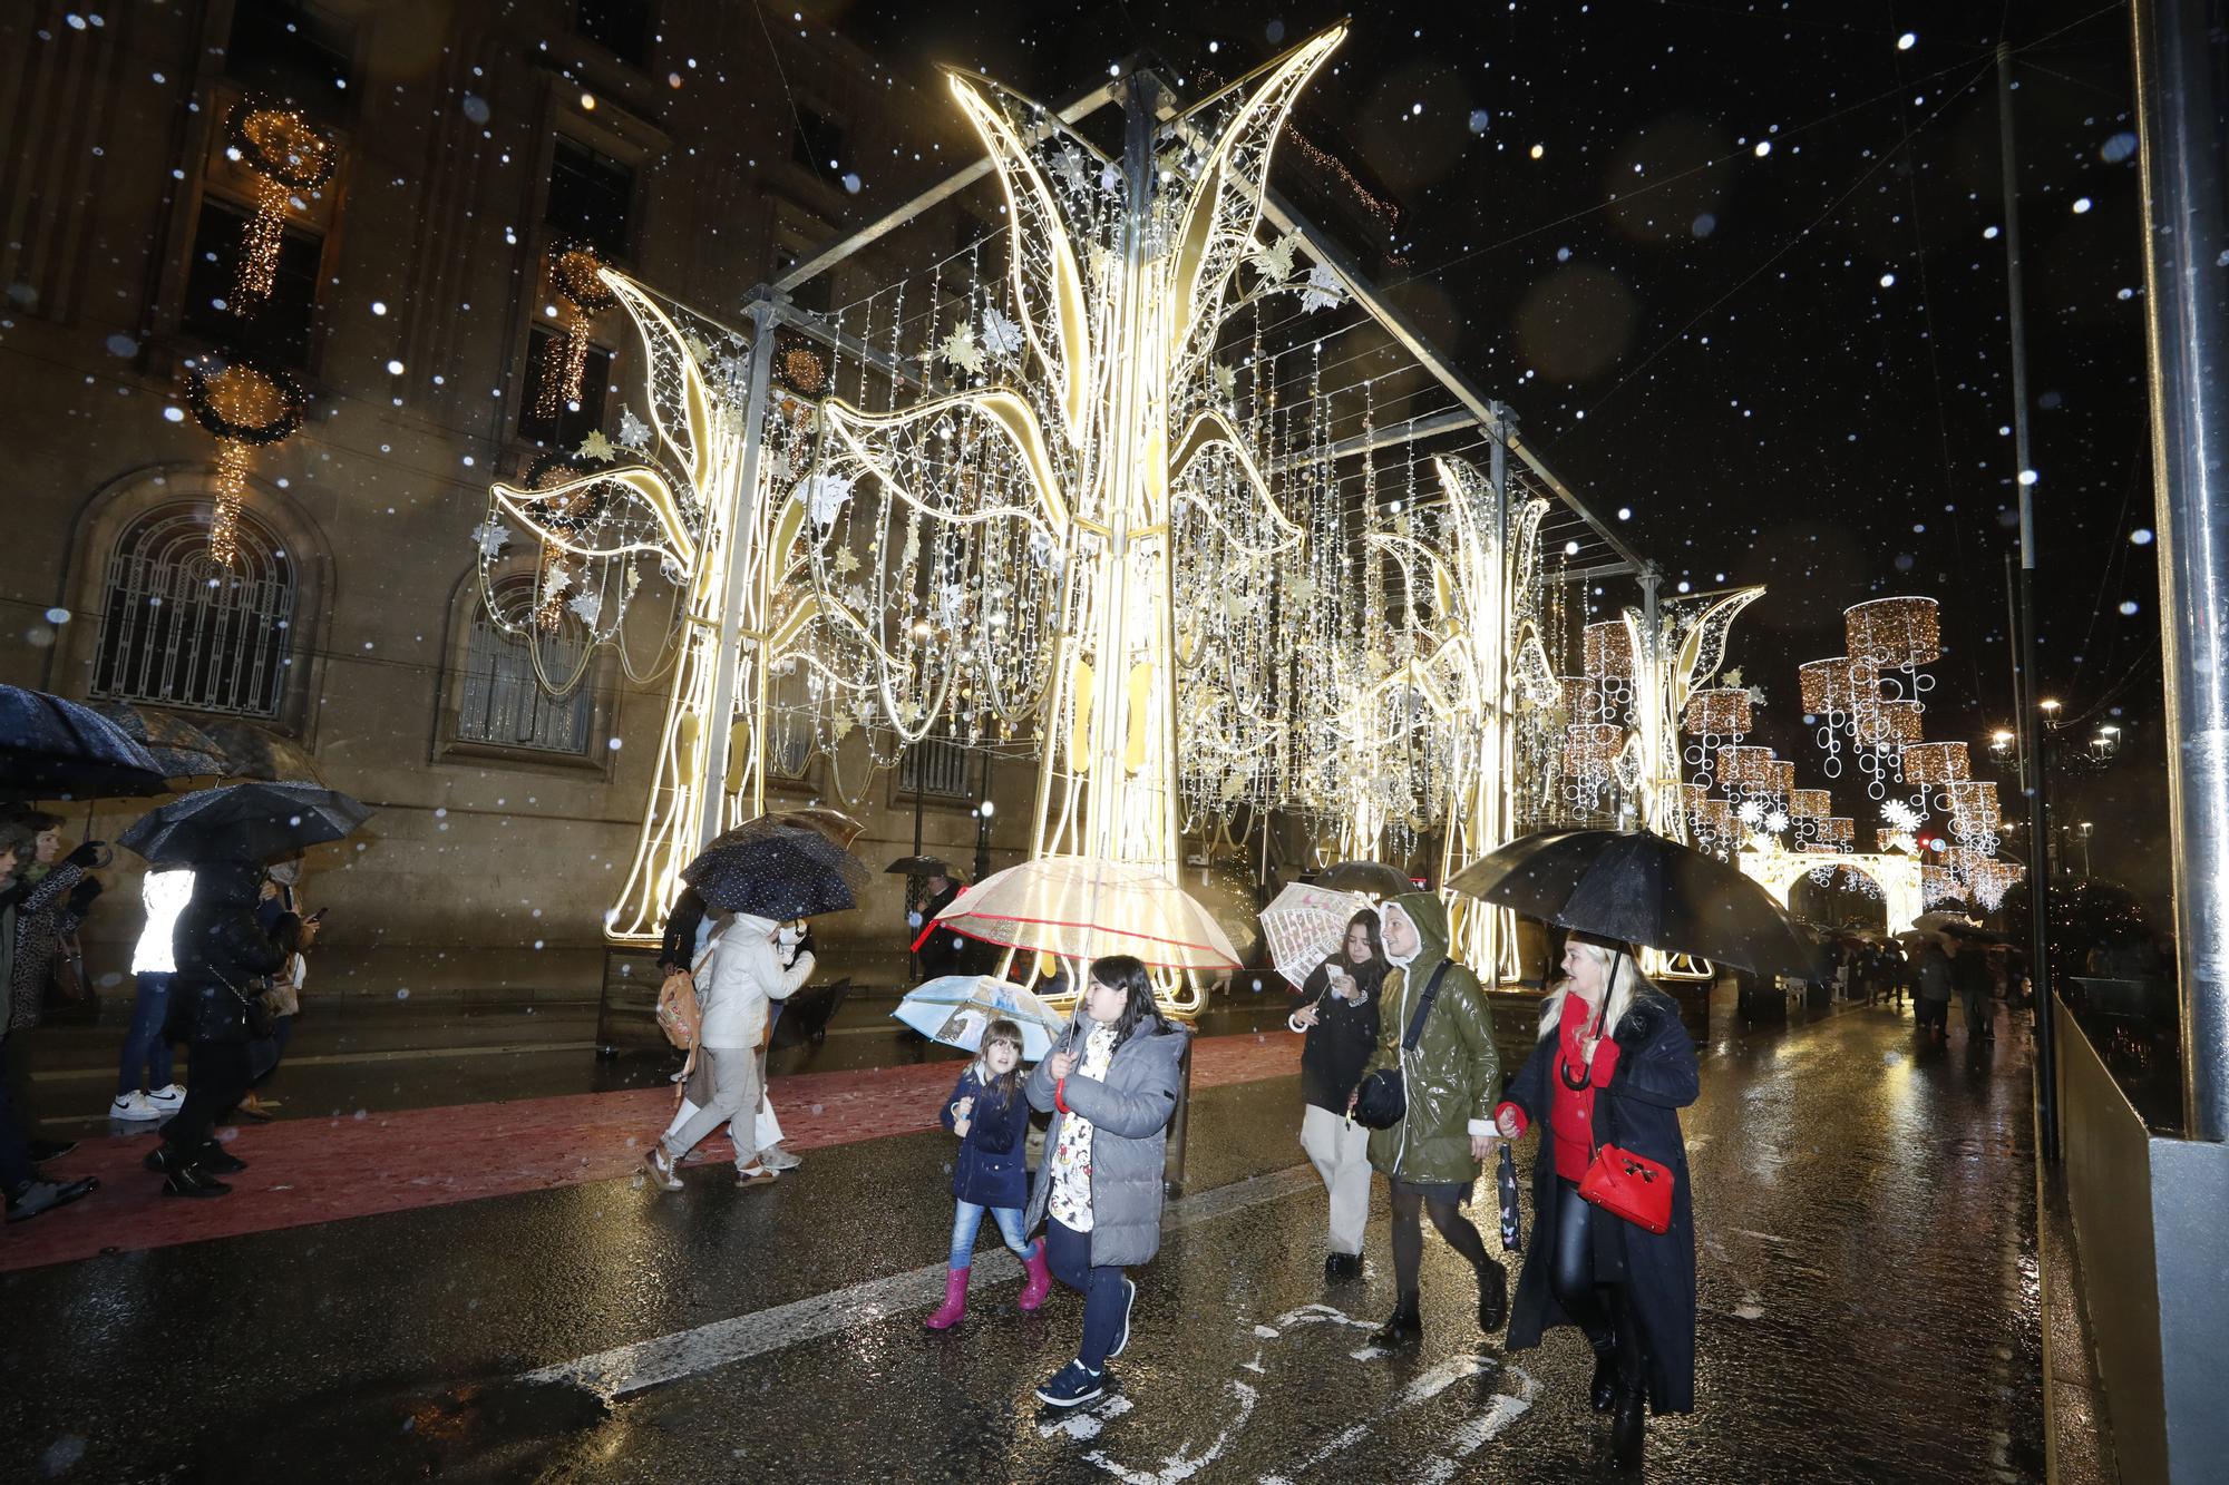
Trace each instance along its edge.
<instances>
[{"instance_id":1,"label":"thick shiny silver metal pole at right edge","mask_svg":"<svg viewBox=\"0 0 2229 1485\"><path fill-rule=\"evenodd\" d=\"M2182 1115L2229 1139L2229 248L2218 4L2133 0Z\"/></svg>"}]
</instances>

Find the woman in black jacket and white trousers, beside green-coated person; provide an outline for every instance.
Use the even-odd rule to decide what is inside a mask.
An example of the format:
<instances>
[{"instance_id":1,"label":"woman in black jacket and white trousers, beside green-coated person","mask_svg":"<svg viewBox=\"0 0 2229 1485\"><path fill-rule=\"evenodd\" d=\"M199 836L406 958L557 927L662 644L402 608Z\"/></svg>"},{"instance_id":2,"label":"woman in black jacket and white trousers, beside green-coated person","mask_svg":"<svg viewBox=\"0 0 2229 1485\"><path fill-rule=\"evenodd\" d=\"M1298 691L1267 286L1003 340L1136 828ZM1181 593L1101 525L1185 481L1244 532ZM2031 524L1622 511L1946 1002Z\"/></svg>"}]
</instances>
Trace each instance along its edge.
<instances>
[{"instance_id":1,"label":"woman in black jacket and white trousers, beside green-coated person","mask_svg":"<svg viewBox=\"0 0 2229 1485\"><path fill-rule=\"evenodd\" d=\"M1302 983L1288 1026L1300 1048L1300 1148L1324 1177L1331 1231L1324 1282L1362 1278L1362 1233L1371 1222L1371 1130L1346 1117L1362 1066L1378 1050L1378 992L1386 977L1378 914L1364 908L1346 921L1340 948Z\"/></svg>"}]
</instances>

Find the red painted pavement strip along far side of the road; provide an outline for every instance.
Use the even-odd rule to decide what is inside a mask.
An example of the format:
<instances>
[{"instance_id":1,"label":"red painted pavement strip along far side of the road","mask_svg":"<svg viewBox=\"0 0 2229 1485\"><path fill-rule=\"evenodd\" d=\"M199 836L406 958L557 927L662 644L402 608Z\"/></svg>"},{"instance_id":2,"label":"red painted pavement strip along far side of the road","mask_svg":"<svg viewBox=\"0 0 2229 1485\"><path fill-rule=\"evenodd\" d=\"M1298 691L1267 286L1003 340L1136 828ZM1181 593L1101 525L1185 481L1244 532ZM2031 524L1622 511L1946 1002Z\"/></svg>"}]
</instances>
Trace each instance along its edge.
<instances>
[{"instance_id":1,"label":"red painted pavement strip along far side of the road","mask_svg":"<svg viewBox=\"0 0 2229 1485\"><path fill-rule=\"evenodd\" d=\"M918 1064L776 1077L773 1108L796 1151L914 1135L936 1128L936 1110L958 1068ZM1195 1088L1286 1077L1297 1068L1300 1037L1291 1032L1201 1037L1193 1048ZM669 1088L633 1088L243 1126L225 1148L250 1168L225 1177L232 1195L212 1202L160 1195L160 1177L140 1168L140 1157L156 1146L152 1130L87 1139L51 1171L98 1175L100 1191L9 1224L0 1271L615 1180L637 1168L671 1117ZM698 1146L698 1155L724 1162L733 1151L718 1137Z\"/></svg>"}]
</instances>

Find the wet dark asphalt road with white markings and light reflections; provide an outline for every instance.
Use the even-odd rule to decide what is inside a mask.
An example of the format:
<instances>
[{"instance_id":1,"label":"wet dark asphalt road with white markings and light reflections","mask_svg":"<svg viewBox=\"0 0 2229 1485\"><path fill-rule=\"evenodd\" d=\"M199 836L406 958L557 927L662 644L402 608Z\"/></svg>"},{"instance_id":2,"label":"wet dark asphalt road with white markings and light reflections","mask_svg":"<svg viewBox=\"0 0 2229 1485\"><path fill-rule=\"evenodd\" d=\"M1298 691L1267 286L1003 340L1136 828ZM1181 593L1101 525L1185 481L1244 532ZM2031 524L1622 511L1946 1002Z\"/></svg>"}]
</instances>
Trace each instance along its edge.
<instances>
[{"instance_id":1,"label":"wet dark asphalt road with white markings and light reflections","mask_svg":"<svg viewBox=\"0 0 2229 1485\"><path fill-rule=\"evenodd\" d=\"M604 1182L0 1278L0 1478L1607 1476L1580 1338L1502 1356L1435 1238L1422 1351L1357 1358L1393 1298L1382 1188L1364 1282L1326 1293L1313 1182L1237 1184L1291 1171L1295 1128L1295 1079L1199 1095L1117 1394L1065 1420L1028 1391L1072 1295L1021 1316L1001 1278L921 1331L903 1275L925 1295L941 1264L950 1139L912 1135L765 1191L693 1168L671 1197ZM2024 1037L1970 1059L1843 1010L1721 1039L1687 1130L1698 1411L1652 1420L1652 1478L2042 1478ZM693 1327L702 1353L629 1396L517 1380Z\"/></svg>"}]
</instances>

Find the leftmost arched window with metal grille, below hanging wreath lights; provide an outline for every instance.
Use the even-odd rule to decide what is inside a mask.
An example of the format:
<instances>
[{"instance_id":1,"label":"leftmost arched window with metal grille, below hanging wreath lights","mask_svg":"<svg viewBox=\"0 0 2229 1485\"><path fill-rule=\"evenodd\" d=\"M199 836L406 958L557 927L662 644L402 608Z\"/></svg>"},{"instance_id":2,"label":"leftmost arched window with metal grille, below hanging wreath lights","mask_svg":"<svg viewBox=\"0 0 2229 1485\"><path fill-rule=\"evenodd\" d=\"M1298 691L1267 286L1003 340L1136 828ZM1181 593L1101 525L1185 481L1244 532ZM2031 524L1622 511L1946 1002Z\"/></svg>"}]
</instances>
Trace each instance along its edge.
<instances>
[{"instance_id":1,"label":"leftmost arched window with metal grille, below hanging wreath lights","mask_svg":"<svg viewBox=\"0 0 2229 1485\"><path fill-rule=\"evenodd\" d=\"M216 566L210 508L158 506L109 553L94 696L276 716L292 622L294 566L252 513L232 566Z\"/></svg>"}]
</instances>

